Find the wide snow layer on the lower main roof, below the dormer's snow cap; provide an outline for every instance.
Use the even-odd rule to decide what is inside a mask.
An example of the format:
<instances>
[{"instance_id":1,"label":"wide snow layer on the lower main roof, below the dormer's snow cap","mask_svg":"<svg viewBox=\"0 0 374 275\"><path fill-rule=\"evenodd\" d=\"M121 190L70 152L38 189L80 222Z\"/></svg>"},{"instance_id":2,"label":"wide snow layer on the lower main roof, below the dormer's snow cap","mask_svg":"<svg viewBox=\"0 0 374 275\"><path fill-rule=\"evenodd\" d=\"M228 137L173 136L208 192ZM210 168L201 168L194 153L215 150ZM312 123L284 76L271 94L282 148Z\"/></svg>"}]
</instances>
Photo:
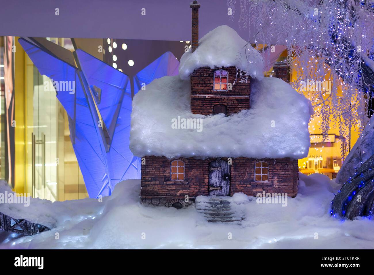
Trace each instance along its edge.
<instances>
[{"instance_id":1,"label":"wide snow layer on the lower main roof, below the dormer's snow cap","mask_svg":"<svg viewBox=\"0 0 374 275\"><path fill-rule=\"evenodd\" d=\"M251 85L251 109L231 116L203 116L191 113L190 81L179 76L153 80L132 103L132 153L169 159L305 157L310 146L310 101L281 79L264 77ZM178 117L201 119L200 131L174 129L172 120Z\"/></svg>"}]
</instances>

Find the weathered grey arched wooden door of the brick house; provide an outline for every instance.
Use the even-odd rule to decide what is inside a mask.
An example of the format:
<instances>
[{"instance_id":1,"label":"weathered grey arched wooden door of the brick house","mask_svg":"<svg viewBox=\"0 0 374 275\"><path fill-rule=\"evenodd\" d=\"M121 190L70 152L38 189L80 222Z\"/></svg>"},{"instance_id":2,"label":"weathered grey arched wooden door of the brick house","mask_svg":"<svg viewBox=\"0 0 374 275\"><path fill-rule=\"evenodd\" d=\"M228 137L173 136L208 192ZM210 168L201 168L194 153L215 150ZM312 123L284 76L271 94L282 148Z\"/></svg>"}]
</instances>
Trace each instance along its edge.
<instances>
[{"instance_id":1,"label":"weathered grey arched wooden door of the brick house","mask_svg":"<svg viewBox=\"0 0 374 275\"><path fill-rule=\"evenodd\" d=\"M230 165L217 159L209 162L209 196L227 196L230 193Z\"/></svg>"}]
</instances>

